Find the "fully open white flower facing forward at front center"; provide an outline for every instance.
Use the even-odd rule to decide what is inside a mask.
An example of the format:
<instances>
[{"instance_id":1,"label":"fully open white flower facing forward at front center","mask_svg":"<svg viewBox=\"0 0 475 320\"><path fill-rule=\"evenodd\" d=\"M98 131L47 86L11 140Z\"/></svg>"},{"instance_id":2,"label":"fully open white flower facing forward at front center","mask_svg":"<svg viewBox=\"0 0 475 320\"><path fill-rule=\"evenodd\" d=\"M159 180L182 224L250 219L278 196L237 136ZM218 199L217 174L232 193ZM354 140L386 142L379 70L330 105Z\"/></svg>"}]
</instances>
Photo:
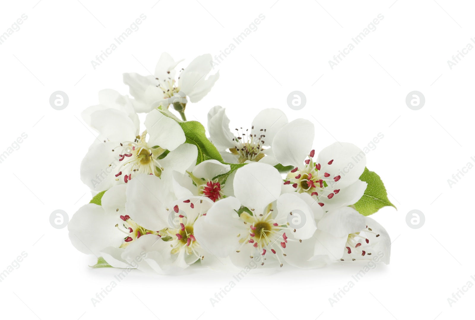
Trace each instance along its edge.
<instances>
[{"instance_id":1,"label":"fully open white flower facing forward at front center","mask_svg":"<svg viewBox=\"0 0 475 320\"><path fill-rule=\"evenodd\" d=\"M237 266L248 264L257 255L265 256L266 264L282 266L287 243L311 237L316 226L314 212L302 198L294 193L281 195L281 179L277 169L265 163L237 169L236 197L217 201L195 223L200 243L217 257L230 256ZM236 210L241 205L252 215L243 212L238 216ZM305 222L299 226L289 223L293 211Z\"/></svg>"}]
</instances>

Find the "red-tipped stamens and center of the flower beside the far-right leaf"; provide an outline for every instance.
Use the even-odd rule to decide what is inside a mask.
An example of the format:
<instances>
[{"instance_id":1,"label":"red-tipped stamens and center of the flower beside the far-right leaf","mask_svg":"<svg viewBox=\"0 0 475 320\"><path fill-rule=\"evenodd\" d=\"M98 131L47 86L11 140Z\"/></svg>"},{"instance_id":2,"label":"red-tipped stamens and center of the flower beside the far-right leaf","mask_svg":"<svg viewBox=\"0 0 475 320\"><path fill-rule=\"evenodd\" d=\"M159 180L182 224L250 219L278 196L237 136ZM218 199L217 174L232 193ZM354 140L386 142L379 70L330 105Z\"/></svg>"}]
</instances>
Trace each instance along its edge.
<instances>
[{"instance_id":1,"label":"red-tipped stamens and center of the flower beside the far-right leaf","mask_svg":"<svg viewBox=\"0 0 475 320\"><path fill-rule=\"evenodd\" d=\"M308 193L311 196L316 196L317 200L320 197L333 198L340 189L332 188L334 182L340 180L340 176L331 177L327 172L320 171L320 163L315 164L313 157L315 150L310 151L308 159L305 160L303 168L296 167L290 171L287 175L287 179L284 184L291 184L299 193ZM329 165L333 163L333 160L328 162ZM318 203L323 207L323 203Z\"/></svg>"}]
</instances>

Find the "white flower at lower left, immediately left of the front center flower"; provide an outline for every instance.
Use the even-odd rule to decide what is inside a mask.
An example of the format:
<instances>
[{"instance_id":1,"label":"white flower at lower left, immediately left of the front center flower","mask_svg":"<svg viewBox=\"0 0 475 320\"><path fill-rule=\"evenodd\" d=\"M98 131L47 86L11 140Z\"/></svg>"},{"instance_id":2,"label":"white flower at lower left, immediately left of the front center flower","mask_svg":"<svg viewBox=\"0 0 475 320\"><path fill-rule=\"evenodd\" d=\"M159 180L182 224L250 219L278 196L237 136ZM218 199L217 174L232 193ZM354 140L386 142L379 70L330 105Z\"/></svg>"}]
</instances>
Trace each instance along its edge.
<instances>
[{"instance_id":1,"label":"white flower at lower left, immediately left of the front center flower","mask_svg":"<svg viewBox=\"0 0 475 320\"><path fill-rule=\"evenodd\" d=\"M126 194L125 207L134 223L158 231L142 235L127 246L124 259L133 259L144 251L147 255L139 269L170 273L204 258L193 230L213 201L206 197L176 199L163 180L150 175L138 175L127 185Z\"/></svg>"}]
</instances>

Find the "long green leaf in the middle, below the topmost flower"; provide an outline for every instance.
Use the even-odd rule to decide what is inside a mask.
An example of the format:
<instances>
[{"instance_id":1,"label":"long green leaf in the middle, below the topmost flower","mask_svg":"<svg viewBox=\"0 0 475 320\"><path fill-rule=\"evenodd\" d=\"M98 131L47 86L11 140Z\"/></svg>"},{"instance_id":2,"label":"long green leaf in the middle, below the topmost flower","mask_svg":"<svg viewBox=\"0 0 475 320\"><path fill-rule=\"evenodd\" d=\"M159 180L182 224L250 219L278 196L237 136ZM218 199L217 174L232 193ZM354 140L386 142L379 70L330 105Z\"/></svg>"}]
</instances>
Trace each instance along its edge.
<instances>
[{"instance_id":1,"label":"long green leaf in the middle, below the topmost flower","mask_svg":"<svg viewBox=\"0 0 475 320\"><path fill-rule=\"evenodd\" d=\"M181 121L173 113L167 109L159 107L161 113L167 117L175 120L180 124L181 129L185 132L186 143L194 144L198 148L198 159L196 164L203 162L204 160L218 160L223 161L218 149L208 140L206 137L205 127L198 121Z\"/></svg>"}]
</instances>

